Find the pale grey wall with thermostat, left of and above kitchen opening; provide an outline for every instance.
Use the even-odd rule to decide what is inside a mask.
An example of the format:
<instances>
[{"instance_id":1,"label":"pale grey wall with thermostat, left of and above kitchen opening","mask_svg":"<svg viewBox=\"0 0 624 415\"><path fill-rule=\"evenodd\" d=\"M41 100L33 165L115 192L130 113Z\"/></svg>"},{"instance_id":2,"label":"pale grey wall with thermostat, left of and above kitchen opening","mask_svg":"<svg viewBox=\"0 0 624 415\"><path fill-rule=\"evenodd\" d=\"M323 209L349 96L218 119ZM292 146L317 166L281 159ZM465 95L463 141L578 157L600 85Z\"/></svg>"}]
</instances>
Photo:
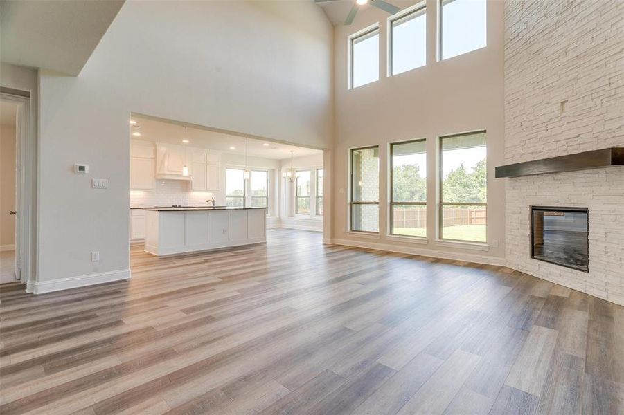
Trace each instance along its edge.
<instances>
[{"instance_id":1,"label":"pale grey wall with thermostat, left of and above kitchen opening","mask_svg":"<svg viewBox=\"0 0 624 415\"><path fill-rule=\"evenodd\" d=\"M311 1L127 1L80 76L40 77L39 281L127 270L131 112L330 147L331 62Z\"/></svg>"}]
</instances>

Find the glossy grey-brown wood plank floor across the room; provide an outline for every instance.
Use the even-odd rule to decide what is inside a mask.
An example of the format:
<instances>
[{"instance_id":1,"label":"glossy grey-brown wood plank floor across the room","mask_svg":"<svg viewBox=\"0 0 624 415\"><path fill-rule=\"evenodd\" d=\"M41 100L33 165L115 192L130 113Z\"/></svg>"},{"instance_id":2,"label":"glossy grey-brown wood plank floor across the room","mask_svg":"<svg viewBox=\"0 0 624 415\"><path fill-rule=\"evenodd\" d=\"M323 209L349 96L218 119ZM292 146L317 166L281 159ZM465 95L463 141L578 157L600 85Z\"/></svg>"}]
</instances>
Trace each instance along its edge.
<instances>
[{"instance_id":1,"label":"glossy grey-brown wood plank floor across the room","mask_svg":"<svg viewBox=\"0 0 624 415\"><path fill-rule=\"evenodd\" d=\"M323 246L1 288L1 414L623 414L624 308L506 268Z\"/></svg>"}]
</instances>

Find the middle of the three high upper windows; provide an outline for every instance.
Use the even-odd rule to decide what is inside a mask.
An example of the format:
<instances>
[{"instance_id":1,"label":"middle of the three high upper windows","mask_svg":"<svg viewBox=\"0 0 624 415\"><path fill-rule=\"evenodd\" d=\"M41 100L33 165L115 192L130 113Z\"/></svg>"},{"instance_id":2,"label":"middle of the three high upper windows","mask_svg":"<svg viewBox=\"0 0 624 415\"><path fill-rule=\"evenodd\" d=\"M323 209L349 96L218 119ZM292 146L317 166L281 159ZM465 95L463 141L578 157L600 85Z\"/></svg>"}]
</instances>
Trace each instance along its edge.
<instances>
[{"instance_id":1,"label":"middle of the three high upper windows","mask_svg":"<svg viewBox=\"0 0 624 415\"><path fill-rule=\"evenodd\" d=\"M427 64L427 15L420 6L391 20L390 73L397 75Z\"/></svg>"}]
</instances>

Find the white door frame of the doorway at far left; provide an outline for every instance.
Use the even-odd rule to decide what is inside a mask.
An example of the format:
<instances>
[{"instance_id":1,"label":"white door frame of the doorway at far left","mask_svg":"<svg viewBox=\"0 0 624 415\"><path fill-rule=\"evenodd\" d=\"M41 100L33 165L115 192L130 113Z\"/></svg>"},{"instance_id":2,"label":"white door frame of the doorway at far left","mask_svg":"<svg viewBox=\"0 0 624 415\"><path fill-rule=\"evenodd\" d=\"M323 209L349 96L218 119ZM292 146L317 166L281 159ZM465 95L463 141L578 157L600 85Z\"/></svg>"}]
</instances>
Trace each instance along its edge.
<instances>
[{"instance_id":1,"label":"white door frame of the doorway at far left","mask_svg":"<svg viewBox=\"0 0 624 415\"><path fill-rule=\"evenodd\" d=\"M35 275L33 275L32 259L33 234L33 194L36 188L35 163L36 154L33 139L32 119L30 118L30 92L0 87L0 100L17 104L17 123L15 124L15 273L19 281L26 284L26 291L32 292ZM35 182L36 183L36 182ZM30 288L30 290L29 290Z\"/></svg>"}]
</instances>

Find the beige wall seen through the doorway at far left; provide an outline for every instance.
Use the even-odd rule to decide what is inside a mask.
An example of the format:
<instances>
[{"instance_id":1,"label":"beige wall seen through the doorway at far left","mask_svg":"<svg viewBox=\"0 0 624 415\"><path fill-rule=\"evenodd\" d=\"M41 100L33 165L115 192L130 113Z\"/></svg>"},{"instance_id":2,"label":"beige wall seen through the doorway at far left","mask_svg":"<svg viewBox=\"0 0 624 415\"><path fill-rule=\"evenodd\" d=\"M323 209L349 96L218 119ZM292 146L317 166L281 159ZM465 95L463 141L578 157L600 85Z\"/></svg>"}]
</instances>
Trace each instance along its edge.
<instances>
[{"instance_id":1,"label":"beige wall seen through the doorway at far left","mask_svg":"<svg viewBox=\"0 0 624 415\"><path fill-rule=\"evenodd\" d=\"M0 125L0 248L15 246L15 126Z\"/></svg>"}]
</instances>

